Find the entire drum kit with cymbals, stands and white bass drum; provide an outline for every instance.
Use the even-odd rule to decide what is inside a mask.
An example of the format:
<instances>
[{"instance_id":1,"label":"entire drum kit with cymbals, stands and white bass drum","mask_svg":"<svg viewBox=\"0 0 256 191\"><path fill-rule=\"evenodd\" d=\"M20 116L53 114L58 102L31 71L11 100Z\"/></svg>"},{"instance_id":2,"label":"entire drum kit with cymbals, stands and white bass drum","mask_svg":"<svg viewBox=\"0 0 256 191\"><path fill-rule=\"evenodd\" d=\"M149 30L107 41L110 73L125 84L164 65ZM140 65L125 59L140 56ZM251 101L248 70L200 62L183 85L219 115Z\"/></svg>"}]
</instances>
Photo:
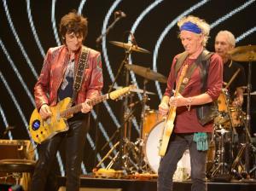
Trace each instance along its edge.
<instances>
[{"instance_id":1,"label":"entire drum kit with cymbals, stands and white bass drum","mask_svg":"<svg viewBox=\"0 0 256 191\"><path fill-rule=\"evenodd\" d=\"M114 147L107 153L107 155L100 161L96 167L99 167L102 162L109 158L110 163L107 169L112 168L115 164L118 164L117 169L125 171L127 174L134 173L157 173L160 156L158 155L158 147L160 136L163 130L164 122L162 116L156 110L152 110L147 106L148 96L154 95L153 92L146 90L146 84L148 80L159 81L160 83L166 83L165 76L158 72L150 70L150 68L141 67L135 64L128 63L128 56L132 51L139 53L149 54L147 49L143 49L133 43L119 43L111 41L115 46L125 49L125 59L122 61L119 67L118 74L116 75L113 84L110 86L110 90L119 89L115 86L115 82L119 76L119 72L124 68L126 72L126 84L129 84L129 72L132 71L135 74L143 77L143 90L133 90L136 93L142 93L143 99L141 101L129 102L128 96L124 101L124 119L120 128L121 138ZM250 64L252 61L256 61L256 46L237 47L230 52L231 59L233 61L248 61L249 62L249 77L247 84L247 104L250 102L251 95L251 69ZM237 72L238 73L238 72ZM231 105L231 99L229 95L229 85L232 80L236 78L237 73L234 74L230 82L226 84L222 93L218 97L218 117L214 119L214 133L212 136L212 142L210 142L207 152L207 177L218 177L219 175L229 174L230 176L244 177L244 174L249 177L252 175L252 170L249 170L247 159L251 148L253 148L254 154L256 148L253 147L252 137L249 134L250 130L250 113L247 108L247 113L244 113L240 106L234 107ZM140 103L142 106L141 122L140 122L140 135L136 142L131 142L131 117L132 109ZM249 107L249 105L247 105ZM234 147L234 135L236 129L240 129L244 126L246 142L238 142L238 147ZM119 147L119 152L114 157L110 157L113 153L113 149ZM238 149L237 149L238 148ZM236 152L239 150L238 152ZM230 154L230 155L229 155ZM236 155L236 159L234 159ZM231 165L230 165L231 161ZM255 162L255 161L254 161ZM254 164L255 166L255 164ZM255 168L255 167L254 167ZM255 168L256 169L256 168ZM255 170L254 169L254 170ZM253 171L254 171L253 170ZM177 165L177 171L174 175L174 179L185 180L189 178L190 173L190 159L189 152L186 151L183 154L183 158ZM244 177L244 178L247 178Z\"/></svg>"}]
</instances>

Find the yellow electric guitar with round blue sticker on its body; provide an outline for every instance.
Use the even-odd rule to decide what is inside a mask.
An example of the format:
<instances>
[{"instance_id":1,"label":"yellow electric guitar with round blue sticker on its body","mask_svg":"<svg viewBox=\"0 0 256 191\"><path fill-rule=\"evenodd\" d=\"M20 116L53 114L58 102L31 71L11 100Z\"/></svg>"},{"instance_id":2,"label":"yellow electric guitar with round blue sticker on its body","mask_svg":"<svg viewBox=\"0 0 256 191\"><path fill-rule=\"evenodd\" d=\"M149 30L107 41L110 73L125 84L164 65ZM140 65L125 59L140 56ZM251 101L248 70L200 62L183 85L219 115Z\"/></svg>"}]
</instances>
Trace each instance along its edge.
<instances>
[{"instance_id":1,"label":"yellow electric guitar with round blue sticker on its body","mask_svg":"<svg viewBox=\"0 0 256 191\"><path fill-rule=\"evenodd\" d=\"M115 90L109 94L102 95L92 99L88 102L90 106L94 106L99 102L111 99L115 100L120 96L124 96L135 88L134 85L122 88L120 90ZM67 119L73 117L74 113L81 111L82 104L71 107L72 99L67 97L54 107L50 107L52 116L49 119L41 119L38 109L34 109L30 122L29 122L29 131L34 142L42 143L45 140L55 136L55 134L67 131L68 124Z\"/></svg>"}]
</instances>

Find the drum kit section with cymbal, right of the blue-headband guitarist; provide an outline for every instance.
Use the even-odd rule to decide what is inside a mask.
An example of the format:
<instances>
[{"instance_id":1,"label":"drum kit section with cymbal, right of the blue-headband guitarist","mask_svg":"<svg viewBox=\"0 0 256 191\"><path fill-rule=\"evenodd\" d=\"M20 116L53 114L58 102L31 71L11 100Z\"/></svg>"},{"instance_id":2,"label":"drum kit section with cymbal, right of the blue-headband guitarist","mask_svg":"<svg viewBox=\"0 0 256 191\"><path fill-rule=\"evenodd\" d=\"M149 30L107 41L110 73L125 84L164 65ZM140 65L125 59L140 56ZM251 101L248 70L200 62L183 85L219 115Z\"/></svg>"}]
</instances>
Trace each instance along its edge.
<instances>
[{"instance_id":1,"label":"drum kit section with cymbal, right of the blue-headband guitarist","mask_svg":"<svg viewBox=\"0 0 256 191\"><path fill-rule=\"evenodd\" d=\"M250 134L250 98L251 94L251 63L256 61L256 46L241 46L229 52L232 61L248 63L247 75L247 113L234 101L231 104L229 85L236 78L238 69L230 82L225 84L220 96L218 96L218 117L214 120L214 134L207 153L207 177L241 179L254 181L256 177L256 148L255 141ZM237 136L240 136L237 137ZM242 138L244 140L241 140ZM250 169L250 167L253 167ZM254 174L253 174L254 173Z\"/></svg>"}]
</instances>

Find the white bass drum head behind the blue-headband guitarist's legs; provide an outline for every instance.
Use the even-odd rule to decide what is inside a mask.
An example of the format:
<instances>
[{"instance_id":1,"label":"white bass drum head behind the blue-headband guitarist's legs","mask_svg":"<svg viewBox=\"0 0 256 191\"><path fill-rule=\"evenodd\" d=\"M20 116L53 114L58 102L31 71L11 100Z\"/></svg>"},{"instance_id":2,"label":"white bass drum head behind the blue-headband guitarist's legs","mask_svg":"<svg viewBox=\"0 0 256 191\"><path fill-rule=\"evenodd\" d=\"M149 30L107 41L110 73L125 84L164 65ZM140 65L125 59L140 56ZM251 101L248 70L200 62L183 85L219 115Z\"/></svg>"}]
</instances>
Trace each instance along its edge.
<instances>
[{"instance_id":1,"label":"white bass drum head behind the blue-headband guitarist's legs","mask_svg":"<svg viewBox=\"0 0 256 191\"><path fill-rule=\"evenodd\" d=\"M162 136L162 131L164 129L164 121L156 124L154 128L149 132L145 143L144 143L144 156L145 161L148 166L151 168L154 173L157 173L160 165L160 156L158 155L159 151L159 142ZM173 176L175 181L183 181L189 178L190 175L190 156L189 150L186 150L183 153L182 159L177 163L177 171Z\"/></svg>"}]
</instances>

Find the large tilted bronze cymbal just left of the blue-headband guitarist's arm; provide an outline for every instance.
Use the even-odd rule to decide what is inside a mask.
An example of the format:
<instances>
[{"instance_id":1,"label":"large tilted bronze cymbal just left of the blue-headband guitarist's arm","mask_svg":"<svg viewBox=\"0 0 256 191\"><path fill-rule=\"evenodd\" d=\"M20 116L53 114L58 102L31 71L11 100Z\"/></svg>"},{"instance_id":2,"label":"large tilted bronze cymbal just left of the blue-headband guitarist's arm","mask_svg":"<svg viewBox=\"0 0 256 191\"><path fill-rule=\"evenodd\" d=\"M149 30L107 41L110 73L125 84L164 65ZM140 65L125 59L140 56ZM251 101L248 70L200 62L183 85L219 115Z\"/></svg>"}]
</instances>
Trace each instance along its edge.
<instances>
[{"instance_id":1,"label":"large tilted bronze cymbal just left of the blue-headband guitarist's arm","mask_svg":"<svg viewBox=\"0 0 256 191\"><path fill-rule=\"evenodd\" d=\"M140 67L135 64L125 64L125 67L128 70L131 70L131 71L135 72L137 75L140 75L144 78L156 80L161 83L167 82L167 78L164 75L162 75L158 72L154 72L154 71L150 70L150 68Z\"/></svg>"}]
</instances>

